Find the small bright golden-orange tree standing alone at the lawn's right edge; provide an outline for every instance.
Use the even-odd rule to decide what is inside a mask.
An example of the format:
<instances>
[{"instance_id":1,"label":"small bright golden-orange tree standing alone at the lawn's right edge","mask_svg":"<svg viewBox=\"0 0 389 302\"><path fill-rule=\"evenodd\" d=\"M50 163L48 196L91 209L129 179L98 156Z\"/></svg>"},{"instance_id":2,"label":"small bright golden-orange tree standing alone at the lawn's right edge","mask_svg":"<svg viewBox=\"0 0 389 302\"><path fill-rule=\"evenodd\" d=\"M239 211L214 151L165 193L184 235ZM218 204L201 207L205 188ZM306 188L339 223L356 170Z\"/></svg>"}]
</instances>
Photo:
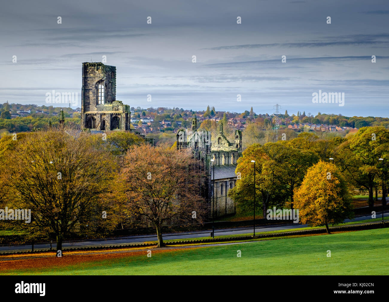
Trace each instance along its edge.
<instances>
[{"instance_id":1,"label":"small bright golden-orange tree standing alone at the lawn's right edge","mask_svg":"<svg viewBox=\"0 0 389 302\"><path fill-rule=\"evenodd\" d=\"M312 226L342 223L352 218L351 195L347 183L333 163L320 161L310 167L294 195L301 223Z\"/></svg>"}]
</instances>

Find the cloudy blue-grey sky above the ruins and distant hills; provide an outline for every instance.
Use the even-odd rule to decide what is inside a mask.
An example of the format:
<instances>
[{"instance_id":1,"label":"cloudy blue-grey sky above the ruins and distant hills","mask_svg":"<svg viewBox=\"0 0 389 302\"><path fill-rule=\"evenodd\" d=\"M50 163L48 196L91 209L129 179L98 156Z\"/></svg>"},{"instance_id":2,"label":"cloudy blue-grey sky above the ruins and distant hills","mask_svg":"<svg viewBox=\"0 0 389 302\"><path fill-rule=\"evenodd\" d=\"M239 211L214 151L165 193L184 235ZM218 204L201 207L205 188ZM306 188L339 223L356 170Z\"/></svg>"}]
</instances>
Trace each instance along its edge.
<instances>
[{"instance_id":1,"label":"cloudy blue-grey sky above the ruins and distant hills","mask_svg":"<svg viewBox=\"0 0 389 302\"><path fill-rule=\"evenodd\" d=\"M80 95L82 62L106 56L131 107L389 117L387 0L16 0L0 25L0 103Z\"/></svg>"}]
</instances>

